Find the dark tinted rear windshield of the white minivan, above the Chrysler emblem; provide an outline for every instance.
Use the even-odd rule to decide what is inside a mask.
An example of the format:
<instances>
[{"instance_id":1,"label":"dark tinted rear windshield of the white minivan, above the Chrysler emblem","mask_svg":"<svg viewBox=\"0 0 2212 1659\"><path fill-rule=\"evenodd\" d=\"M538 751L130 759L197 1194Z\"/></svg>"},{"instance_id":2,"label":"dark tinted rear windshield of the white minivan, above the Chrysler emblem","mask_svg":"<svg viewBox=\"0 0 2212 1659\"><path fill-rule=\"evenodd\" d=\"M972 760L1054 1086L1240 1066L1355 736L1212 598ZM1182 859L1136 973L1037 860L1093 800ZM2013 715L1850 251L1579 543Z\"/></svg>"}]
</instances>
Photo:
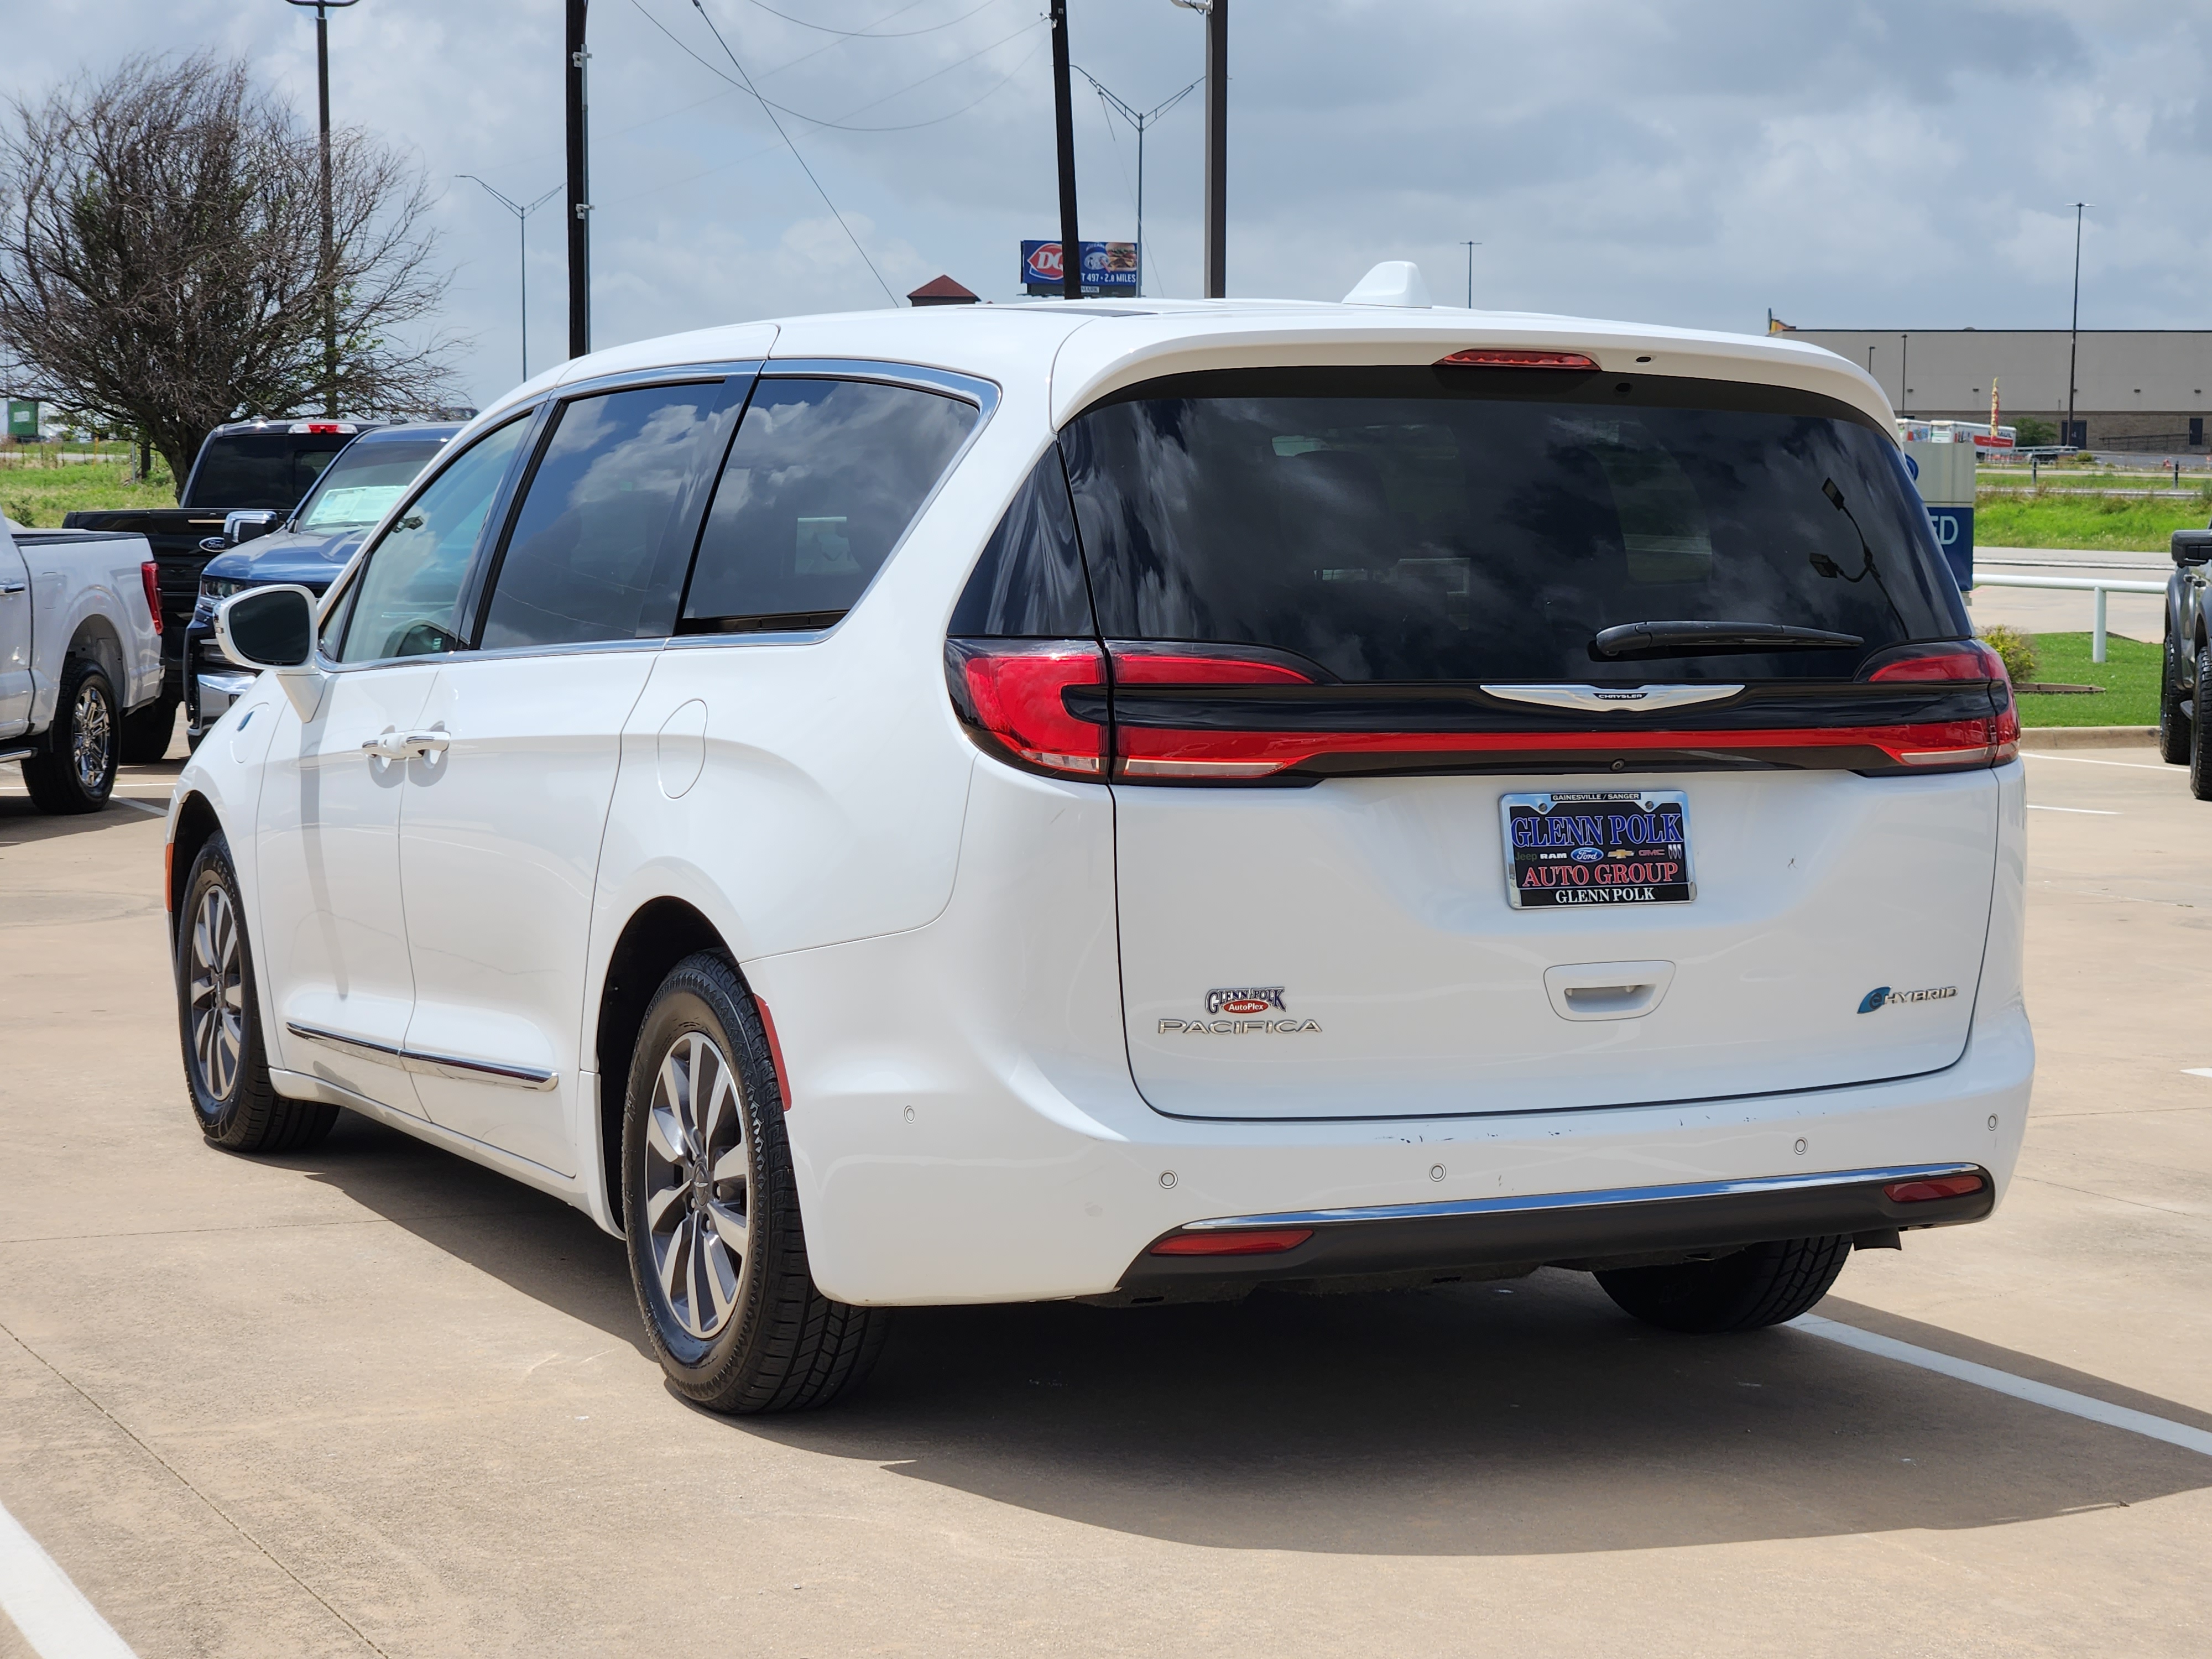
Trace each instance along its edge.
<instances>
[{"instance_id":1,"label":"dark tinted rear windshield of the white minivan, above the Chrysler emblem","mask_svg":"<svg viewBox=\"0 0 2212 1659\"><path fill-rule=\"evenodd\" d=\"M1062 451L1110 639L1267 646L1345 681L1639 684L1849 677L1885 646L1969 630L1896 445L1809 394L1221 372L1095 407ZM1635 622L1865 644L1593 650Z\"/></svg>"}]
</instances>

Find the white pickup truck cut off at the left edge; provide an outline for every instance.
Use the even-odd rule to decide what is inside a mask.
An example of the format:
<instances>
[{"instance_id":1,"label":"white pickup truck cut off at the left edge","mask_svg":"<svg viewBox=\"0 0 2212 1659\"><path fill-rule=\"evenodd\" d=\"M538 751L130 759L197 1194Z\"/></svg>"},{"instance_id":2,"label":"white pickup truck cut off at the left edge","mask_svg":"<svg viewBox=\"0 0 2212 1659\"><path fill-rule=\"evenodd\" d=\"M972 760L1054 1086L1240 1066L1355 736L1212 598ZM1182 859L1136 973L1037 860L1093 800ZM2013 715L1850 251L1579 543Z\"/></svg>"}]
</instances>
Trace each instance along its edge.
<instances>
[{"instance_id":1,"label":"white pickup truck cut off at the left edge","mask_svg":"<svg viewBox=\"0 0 2212 1659\"><path fill-rule=\"evenodd\" d=\"M97 812L122 717L161 695L161 613L144 535L0 520L0 761L42 812Z\"/></svg>"}]
</instances>

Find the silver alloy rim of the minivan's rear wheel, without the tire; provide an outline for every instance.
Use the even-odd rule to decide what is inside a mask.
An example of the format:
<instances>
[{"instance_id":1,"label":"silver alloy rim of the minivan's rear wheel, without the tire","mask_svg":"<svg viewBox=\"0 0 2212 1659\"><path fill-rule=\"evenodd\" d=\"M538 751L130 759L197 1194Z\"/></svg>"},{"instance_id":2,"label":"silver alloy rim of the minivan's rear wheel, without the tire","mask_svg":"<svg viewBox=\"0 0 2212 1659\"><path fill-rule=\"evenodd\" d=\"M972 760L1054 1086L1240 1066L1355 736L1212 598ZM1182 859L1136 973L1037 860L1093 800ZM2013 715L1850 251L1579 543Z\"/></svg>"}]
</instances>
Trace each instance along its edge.
<instances>
[{"instance_id":1,"label":"silver alloy rim of the minivan's rear wheel, without the tire","mask_svg":"<svg viewBox=\"0 0 2212 1659\"><path fill-rule=\"evenodd\" d=\"M745 1108L703 1031L661 1055L646 1117L646 1239L668 1312L699 1340L737 1314L752 1265Z\"/></svg>"}]
</instances>

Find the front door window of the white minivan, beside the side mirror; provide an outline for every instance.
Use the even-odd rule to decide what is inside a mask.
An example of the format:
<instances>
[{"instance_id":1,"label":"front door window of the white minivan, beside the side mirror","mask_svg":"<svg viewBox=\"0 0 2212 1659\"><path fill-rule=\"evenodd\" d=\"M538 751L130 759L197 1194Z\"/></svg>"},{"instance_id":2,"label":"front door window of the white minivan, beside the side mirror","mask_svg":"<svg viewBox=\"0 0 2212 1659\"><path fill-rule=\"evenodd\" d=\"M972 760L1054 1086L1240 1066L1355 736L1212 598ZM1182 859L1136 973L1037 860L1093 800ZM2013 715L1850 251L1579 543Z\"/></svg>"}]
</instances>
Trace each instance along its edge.
<instances>
[{"instance_id":1,"label":"front door window of the white minivan, beside the side mirror","mask_svg":"<svg viewBox=\"0 0 2212 1659\"><path fill-rule=\"evenodd\" d=\"M345 599L338 661L380 661L453 650L460 644L460 584L500 493L507 462L531 429L529 416L489 431L453 458L416 495L383 540Z\"/></svg>"}]
</instances>

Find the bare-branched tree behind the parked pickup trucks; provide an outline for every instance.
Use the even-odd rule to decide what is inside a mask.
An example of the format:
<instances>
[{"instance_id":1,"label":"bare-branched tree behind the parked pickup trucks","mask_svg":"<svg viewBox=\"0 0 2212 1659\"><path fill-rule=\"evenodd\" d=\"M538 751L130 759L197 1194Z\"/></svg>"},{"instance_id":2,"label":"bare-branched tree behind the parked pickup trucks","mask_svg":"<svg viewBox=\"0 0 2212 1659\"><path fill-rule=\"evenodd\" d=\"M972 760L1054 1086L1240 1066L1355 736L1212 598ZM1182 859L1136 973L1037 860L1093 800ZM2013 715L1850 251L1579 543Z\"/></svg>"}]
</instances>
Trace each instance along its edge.
<instances>
[{"instance_id":1,"label":"bare-branched tree behind the parked pickup trucks","mask_svg":"<svg viewBox=\"0 0 2212 1659\"><path fill-rule=\"evenodd\" d=\"M451 281L420 170L361 128L321 159L246 64L133 58L104 82L15 100L0 131L0 367L18 396L137 427L181 480L208 429L338 407L451 400L460 345L416 336ZM403 338L409 336L409 338Z\"/></svg>"}]
</instances>

